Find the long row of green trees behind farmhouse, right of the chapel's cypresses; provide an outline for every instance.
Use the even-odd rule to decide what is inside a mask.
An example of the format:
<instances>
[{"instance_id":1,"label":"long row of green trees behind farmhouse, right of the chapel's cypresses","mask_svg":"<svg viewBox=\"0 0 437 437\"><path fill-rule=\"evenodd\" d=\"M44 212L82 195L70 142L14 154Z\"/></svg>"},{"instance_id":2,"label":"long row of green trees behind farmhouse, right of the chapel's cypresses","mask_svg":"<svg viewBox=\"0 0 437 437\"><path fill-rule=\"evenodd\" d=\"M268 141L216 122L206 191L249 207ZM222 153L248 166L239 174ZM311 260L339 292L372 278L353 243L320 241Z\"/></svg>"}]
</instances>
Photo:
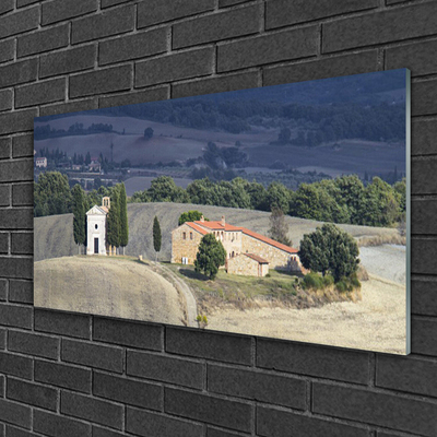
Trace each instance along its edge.
<instances>
[{"instance_id":1,"label":"long row of green trees behind farmhouse, right of the chapel's cypresses","mask_svg":"<svg viewBox=\"0 0 437 437\"><path fill-rule=\"evenodd\" d=\"M268 188L240 177L214 182L209 178L192 181L186 189L172 177L160 176L131 202L178 202L259 211L281 210L284 214L322 222L367 226L391 226L405 215L405 180L394 185L374 177L364 186L356 175L300 184L291 190L274 181Z\"/></svg>"}]
</instances>

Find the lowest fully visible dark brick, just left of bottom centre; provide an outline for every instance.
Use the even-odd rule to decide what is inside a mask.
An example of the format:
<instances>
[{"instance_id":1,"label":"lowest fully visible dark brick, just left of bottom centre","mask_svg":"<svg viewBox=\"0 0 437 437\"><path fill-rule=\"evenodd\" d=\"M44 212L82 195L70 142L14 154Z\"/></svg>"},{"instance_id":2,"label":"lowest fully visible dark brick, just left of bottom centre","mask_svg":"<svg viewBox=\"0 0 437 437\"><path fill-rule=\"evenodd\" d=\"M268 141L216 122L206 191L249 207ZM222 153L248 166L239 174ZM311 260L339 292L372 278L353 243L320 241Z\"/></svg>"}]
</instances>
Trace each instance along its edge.
<instances>
[{"instance_id":1,"label":"lowest fully visible dark brick, just left of bottom centre","mask_svg":"<svg viewBox=\"0 0 437 437\"><path fill-rule=\"evenodd\" d=\"M251 429L251 405L238 401L166 388L164 410L225 428L247 433Z\"/></svg>"}]
</instances>

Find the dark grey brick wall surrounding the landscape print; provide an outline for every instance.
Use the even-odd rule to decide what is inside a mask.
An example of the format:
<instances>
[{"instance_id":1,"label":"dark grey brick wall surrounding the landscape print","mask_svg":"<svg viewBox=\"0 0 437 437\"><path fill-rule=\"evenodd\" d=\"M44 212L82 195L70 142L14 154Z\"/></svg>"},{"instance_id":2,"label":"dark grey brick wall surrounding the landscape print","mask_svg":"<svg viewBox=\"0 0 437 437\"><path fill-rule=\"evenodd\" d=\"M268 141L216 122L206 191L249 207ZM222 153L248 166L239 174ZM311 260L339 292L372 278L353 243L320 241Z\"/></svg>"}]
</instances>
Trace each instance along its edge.
<instances>
[{"instance_id":1,"label":"dark grey brick wall surrounding the landscape print","mask_svg":"<svg viewBox=\"0 0 437 437\"><path fill-rule=\"evenodd\" d=\"M1 0L0 436L437 436L437 1ZM408 357L36 309L35 116L408 67Z\"/></svg>"}]
</instances>

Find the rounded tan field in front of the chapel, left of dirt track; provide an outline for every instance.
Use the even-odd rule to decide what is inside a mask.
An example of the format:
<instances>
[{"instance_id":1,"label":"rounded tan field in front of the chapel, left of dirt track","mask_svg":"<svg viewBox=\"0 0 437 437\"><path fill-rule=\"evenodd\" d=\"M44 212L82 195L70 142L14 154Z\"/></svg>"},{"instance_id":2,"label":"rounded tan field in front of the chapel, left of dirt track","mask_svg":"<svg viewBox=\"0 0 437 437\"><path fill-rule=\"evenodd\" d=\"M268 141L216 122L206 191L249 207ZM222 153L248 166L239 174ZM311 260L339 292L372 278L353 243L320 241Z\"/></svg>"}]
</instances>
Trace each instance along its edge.
<instances>
[{"instance_id":1,"label":"rounded tan field in front of the chapel, left of dirt track","mask_svg":"<svg viewBox=\"0 0 437 437\"><path fill-rule=\"evenodd\" d=\"M129 257L63 257L35 262L35 306L186 323L184 296L152 265Z\"/></svg>"}]
</instances>

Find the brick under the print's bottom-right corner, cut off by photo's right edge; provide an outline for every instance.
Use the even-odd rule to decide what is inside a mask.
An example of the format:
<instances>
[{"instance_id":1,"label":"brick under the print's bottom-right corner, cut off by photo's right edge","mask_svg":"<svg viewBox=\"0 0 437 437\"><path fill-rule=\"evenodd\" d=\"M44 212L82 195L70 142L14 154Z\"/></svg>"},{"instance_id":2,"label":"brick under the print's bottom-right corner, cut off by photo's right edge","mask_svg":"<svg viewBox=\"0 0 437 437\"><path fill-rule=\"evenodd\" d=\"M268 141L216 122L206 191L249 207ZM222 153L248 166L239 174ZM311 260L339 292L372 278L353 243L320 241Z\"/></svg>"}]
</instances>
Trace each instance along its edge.
<instances>
[{"instance_id":1,"label":"brick under the print's bottom-right corner, cut off by photo's right edge","mask_svg":"<svg viewBox=\"0 0 437 437\"><path fill-rule=\"evenodd\" d=\"M421 395L437 395L437 363L378 355L376 386Z\"/></svg>"}]
</instances>

